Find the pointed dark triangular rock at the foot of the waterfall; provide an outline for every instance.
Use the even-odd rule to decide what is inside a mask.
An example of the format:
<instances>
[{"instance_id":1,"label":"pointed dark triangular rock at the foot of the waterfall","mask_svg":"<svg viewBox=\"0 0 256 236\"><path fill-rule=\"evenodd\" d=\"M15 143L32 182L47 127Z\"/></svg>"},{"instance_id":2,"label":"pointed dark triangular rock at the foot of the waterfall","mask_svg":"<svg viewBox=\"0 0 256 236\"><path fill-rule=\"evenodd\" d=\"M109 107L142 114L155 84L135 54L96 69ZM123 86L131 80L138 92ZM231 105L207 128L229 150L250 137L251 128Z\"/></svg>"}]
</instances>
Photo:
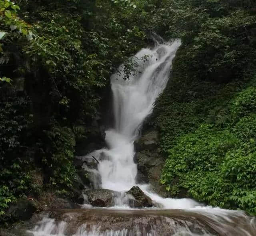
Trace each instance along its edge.
<instances>
[{"instance_id":1,"label":"pointed dark triangular rock at the foot of the waterfall","mask_svg":"<svg viewBox=\"0 0 256 236\"><path fill-rule=\"evenodd\" d=\"M127 193L134 197L134 200L132 200L132 205L134 207L141 208L153 206L151 198L144 194L138 186L133 186Z\"/></svg>"}]
</instances>

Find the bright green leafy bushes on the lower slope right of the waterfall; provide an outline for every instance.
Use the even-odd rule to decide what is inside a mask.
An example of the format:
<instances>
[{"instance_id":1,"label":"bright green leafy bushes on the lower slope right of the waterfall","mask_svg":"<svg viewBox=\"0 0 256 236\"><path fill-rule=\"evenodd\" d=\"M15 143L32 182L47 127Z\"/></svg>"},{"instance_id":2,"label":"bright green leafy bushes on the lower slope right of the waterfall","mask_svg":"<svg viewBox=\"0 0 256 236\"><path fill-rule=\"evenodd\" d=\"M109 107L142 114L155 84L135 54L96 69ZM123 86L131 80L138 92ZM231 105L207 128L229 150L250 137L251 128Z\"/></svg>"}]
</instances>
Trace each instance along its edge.
<instances>
[{"instance_id":1,"label":"bright green leafy bushes on the lower slope right of the waterfall","mask_svg":"<svg viewBox=\"0 0 256 236\"><path fill-rule=\"evenodd\" d=\"M228 129L203 124L168 151L162 183L174 195L185 188L202 202L255 214L255 150L254 140L244 143Z\"/></svg>"}]
</instances>

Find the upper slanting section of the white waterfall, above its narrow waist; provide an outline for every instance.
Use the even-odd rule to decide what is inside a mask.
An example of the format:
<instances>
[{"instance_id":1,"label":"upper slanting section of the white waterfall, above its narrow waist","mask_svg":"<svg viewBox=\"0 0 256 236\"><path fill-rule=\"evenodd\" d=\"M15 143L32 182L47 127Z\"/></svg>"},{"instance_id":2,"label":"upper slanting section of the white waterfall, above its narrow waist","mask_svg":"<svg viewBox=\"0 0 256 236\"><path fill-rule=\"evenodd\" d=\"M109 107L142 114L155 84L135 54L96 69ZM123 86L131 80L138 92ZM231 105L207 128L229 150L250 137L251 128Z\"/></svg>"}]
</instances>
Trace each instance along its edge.
<instances>
[{"instance_id":1,"label":"upper slanting section of the white waterfall, above its narrow waist","mask_svg":"<svg viewBox=\"0 0 256 236\"><path fill-rule=\"evenodd\" d=\"M150 114L156 97L164 90L169 79L172 59L181 42L175 40L170 44L158 44L155 48L145 48L135 55L138 63L136 75L123 79L121 65L111 77L115 130L133 137L144 119ZM147 60L142 58L147 57Z\"/></svg>"}]
</instances>

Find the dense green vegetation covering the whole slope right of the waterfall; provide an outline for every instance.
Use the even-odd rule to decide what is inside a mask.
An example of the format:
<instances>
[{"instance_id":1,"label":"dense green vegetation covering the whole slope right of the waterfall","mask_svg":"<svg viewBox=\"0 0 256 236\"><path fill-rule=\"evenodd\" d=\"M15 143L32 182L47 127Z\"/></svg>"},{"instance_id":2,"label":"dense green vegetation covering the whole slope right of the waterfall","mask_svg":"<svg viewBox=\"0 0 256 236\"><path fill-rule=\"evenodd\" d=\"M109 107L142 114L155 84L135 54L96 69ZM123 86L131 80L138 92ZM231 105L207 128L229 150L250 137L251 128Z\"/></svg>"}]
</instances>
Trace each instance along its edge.
<instances>
[{"instance_id":1,"label":"dense green vegetation covering the whole slope right of the waterfall","mask_svg":"<svg viewBox=\"0 0 256 236\"><path fill-rule=\"evenodd\" d=\"M166 0L153 22L183 41L154 111L162 183L171 196L256 214L255 1Z\"/></svg>"}]
</instances>

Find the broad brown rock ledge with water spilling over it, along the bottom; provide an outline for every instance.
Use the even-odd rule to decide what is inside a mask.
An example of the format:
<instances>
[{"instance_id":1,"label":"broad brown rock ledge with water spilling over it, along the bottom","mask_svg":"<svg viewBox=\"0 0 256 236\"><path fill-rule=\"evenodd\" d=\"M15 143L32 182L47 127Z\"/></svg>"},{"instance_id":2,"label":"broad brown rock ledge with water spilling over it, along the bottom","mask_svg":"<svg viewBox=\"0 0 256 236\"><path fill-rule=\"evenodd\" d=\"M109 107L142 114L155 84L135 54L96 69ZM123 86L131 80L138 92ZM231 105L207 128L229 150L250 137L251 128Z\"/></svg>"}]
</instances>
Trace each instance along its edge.
<instances>
[{"instance_id":1,"label":"broad brown rock ledge with water spilling over it, along the bottom","mask_svg":"<svg viewBox=\"0 0 256 236\"><path fill-rule=\"evenodd\" d=\"M219 222L207 216L180 210L78 209L58 211L52 214L51 217L56 220L52 224L56 229L54 231L55 235L63 234L63 231L61 231L63 230L63 224L66 228L65 235L76 235L78 229L79 235L223 235L223 228L219 226ZM239 220L239 226L243 225L244 222L240 223ZM62 228L58 227L60 222L62 222ZM42 226L45 224L38 222L36 225ZM218 234L213 228L217 228L221 233ZM242 234L236 233L240 227L234 227L234 224L230 224L230 228L232 230L230 235L244 236L244 231ZM48 234L46 233L46 235Z\"/></svg>"}]
</instances>

